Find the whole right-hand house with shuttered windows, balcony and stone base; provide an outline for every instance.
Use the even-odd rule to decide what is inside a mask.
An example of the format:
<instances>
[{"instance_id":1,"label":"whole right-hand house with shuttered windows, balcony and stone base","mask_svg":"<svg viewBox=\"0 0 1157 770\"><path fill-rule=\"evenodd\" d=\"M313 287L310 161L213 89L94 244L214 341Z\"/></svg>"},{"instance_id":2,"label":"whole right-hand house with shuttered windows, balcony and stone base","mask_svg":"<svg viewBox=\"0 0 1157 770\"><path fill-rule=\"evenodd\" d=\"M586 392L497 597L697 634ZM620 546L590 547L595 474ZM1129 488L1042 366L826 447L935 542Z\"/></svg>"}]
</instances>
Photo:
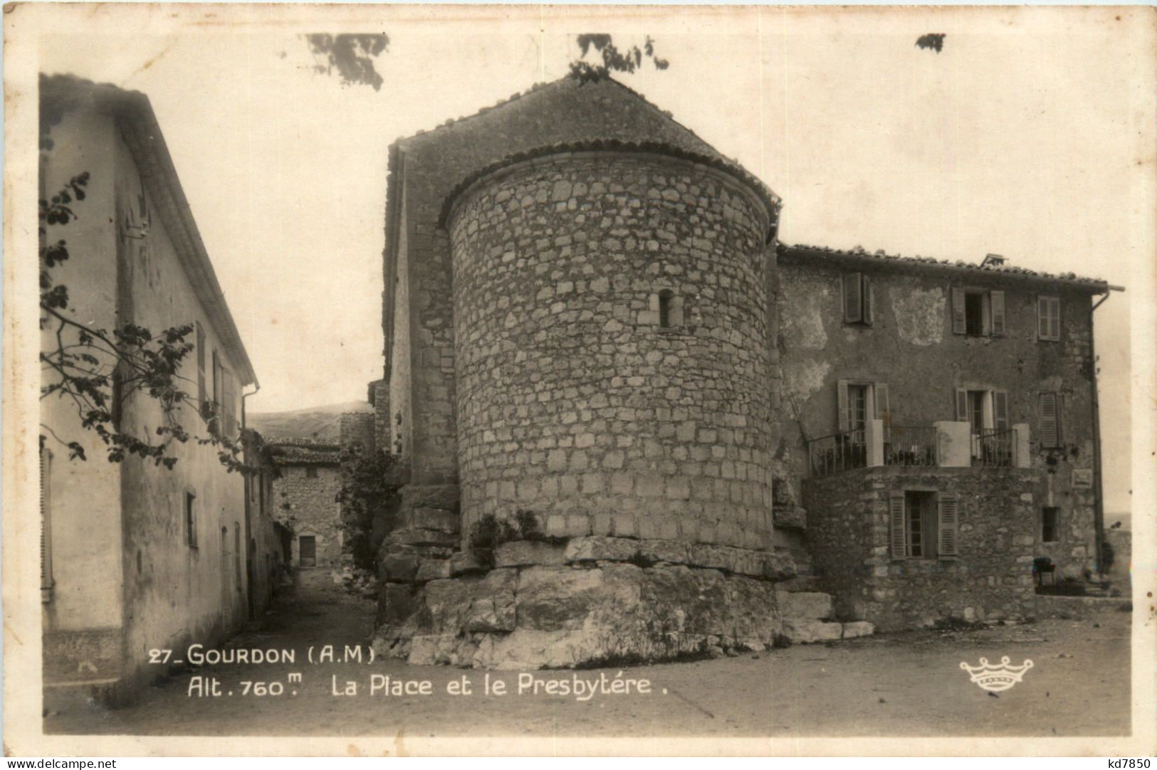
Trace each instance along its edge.
<instances>
[{"instance_id":1,"label":"whole right-hand house with shuttered windows, balcony and stone base","mask_svg":"<svg viewBox=\"0 0 1157 770\"><path fill-rule=\"evenodd\" d=\"M779 250L781 451L841 614L1031 614L1033 562L1097 571L1091 297L1075 276Z\"/></svg>"}]
</instances>

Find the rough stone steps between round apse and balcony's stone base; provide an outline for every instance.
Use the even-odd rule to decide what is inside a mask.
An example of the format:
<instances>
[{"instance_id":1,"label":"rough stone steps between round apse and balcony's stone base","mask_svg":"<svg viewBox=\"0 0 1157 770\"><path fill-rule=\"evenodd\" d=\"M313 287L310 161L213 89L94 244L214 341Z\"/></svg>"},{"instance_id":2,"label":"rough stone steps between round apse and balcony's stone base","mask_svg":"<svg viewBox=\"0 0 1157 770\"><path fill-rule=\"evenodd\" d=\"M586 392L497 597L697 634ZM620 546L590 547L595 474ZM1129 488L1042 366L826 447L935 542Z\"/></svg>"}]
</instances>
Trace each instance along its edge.
<instances>
[{"instance_id":1,"label":"rough stone steps between round apse and balcony's stone base","mask_svg":"<svg viewBox=\"0 0 1157 770\"><path fill-rule=\"evenodd\" d=\"M795 526L793 526L795 525ZM876 629L867 621L841 623L835 617L831 594L811 564L803 530L803 516L776 519L775 548L791 557L796 576L776 585L775 599L783 620L783 635L791 644L835 642L869 636Z\"/></svg>"}]
</instances>

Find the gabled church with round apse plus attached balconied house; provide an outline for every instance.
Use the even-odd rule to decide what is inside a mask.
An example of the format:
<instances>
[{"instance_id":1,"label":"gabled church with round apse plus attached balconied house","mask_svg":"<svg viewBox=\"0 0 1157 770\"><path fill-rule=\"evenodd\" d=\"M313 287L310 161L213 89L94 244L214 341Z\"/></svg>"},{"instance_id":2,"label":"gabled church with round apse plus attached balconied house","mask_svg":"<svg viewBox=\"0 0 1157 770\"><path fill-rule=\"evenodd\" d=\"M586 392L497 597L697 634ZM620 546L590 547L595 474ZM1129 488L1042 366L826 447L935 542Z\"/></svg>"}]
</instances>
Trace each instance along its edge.
<instances>
[{"instance_id":1,"label":"gabled church with round apse plus attached balconied house","mask_svg":"<svg viewBox=\"0 0 1157 770\"><path fill-rule=\"evenodd\" d=\"M1106 284L788 246L780 213L609 79L391 146L382 652L721 654L1023 613L1036 556L1096 569Z\"/></svg>"}]
</instances>

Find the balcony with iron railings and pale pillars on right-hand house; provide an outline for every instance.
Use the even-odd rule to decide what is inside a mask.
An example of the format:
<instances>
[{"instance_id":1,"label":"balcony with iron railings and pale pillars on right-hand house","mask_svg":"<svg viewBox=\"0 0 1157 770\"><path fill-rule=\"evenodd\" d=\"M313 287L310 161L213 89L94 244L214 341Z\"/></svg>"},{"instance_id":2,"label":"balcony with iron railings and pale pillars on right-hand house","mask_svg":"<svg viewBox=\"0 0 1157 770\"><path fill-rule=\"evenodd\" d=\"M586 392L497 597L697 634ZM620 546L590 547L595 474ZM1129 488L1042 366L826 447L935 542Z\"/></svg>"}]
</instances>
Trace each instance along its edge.
<instances>
[{"instance_id":1,"label":"balcony with iron railings and pale pillars on right-hand house","mask_svg":"<svg viewBox=\"0 0 1157 770\"><path fill-rule=\"evenodd\" d=\"M1029 425L973 432L967 422L931 425L884 425L871 420L863 430L848 430L808 442L812 476L879 466L905 468L1027 468Z\"/></svg>"}]
</instances>

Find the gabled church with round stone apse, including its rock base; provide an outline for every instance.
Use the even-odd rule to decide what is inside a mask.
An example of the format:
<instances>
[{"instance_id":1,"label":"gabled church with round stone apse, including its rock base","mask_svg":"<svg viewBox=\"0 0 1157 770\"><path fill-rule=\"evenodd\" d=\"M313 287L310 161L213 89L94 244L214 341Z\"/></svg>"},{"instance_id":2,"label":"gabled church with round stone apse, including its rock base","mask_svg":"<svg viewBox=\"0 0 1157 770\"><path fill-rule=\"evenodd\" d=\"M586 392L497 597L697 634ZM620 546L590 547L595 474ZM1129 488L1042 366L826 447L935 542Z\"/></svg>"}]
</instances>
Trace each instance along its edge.
<instances>
[{"instance_id":1,"label":"gabled church with round stone apse, including its rock base","mask_svg":"<svg viewBox=\"0 0 1157 770\"><path fill-rule=\"evenodd\" d=\"M399 140L390 169L376 408L405 486L377 652L773 644L775 194L607 79Z\"/></svg>"}]
</instances>

